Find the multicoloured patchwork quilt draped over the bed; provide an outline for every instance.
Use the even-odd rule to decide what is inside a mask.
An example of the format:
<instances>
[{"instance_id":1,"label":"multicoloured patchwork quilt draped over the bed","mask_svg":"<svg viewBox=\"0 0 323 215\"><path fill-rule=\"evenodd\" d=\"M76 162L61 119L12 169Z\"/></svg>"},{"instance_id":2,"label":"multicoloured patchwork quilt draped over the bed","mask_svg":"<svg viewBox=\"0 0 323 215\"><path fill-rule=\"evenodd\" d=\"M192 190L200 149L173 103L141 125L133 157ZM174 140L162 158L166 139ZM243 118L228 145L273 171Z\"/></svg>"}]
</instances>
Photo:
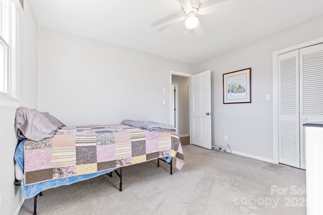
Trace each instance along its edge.
<instances>
[{"instance_id":1,"label":"multicoloured patchwork quilt draped over the bed","mask_svg":"<svg viewBox=\"0 0 323 215\"><path fill-rule=\"evenodd\" d=\"M90 174L157 158L184 162L176 132L157 132L128 125L63 127L51 138L27 139L24 145L24 184Z\"/></svg>"}]
</instances>

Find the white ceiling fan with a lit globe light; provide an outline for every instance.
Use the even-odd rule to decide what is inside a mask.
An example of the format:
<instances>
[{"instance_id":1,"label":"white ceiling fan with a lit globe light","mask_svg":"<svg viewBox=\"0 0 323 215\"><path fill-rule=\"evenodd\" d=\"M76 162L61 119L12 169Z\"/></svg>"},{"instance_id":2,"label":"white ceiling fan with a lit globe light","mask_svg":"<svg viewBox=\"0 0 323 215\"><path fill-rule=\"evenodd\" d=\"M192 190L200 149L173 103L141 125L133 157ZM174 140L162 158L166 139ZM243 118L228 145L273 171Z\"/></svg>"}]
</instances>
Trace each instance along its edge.
<instances>
[{"instance_id":1,"label":"white ceiling fan with a lit globe light","mask_svg":"<svg viewBox=\"0 0 323 215\"><path fill-rule=\"evenodd\" d=\"M184 16L168 22L166 25L161 26L157 31L164 31L165 29L180 23L185 20L185 26L188 29L194 29L197 36L203 34L201 24L196 15L205 15L216 11L217 4L226 2L228 0L219 0L216 4L200 8L200 2L198 0L178 0L183 6Z\"/></svg>"}]
</instances>

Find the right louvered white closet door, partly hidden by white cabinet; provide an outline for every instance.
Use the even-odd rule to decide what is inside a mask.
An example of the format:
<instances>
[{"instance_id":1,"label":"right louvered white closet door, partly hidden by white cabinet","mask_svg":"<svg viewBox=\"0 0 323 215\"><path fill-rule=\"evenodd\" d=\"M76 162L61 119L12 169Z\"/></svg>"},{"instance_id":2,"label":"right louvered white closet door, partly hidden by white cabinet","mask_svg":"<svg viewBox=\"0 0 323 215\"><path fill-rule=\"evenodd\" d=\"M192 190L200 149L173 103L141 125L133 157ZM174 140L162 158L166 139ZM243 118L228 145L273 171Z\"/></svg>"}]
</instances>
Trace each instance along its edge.
<instances>
[{"instance_id":1,"label":"right louvered white closet door, partly hidden by white cabinet","mask_svg":"<svg viewBox=\"0 0 323 215\"><path fill-rule=\"evenodd\" d=\"M302 125L323 121L323 44L299 49L300 167L305 169L305 129ZM322 155L323 156L323 155Z\"/></svg>"}]
</instances>

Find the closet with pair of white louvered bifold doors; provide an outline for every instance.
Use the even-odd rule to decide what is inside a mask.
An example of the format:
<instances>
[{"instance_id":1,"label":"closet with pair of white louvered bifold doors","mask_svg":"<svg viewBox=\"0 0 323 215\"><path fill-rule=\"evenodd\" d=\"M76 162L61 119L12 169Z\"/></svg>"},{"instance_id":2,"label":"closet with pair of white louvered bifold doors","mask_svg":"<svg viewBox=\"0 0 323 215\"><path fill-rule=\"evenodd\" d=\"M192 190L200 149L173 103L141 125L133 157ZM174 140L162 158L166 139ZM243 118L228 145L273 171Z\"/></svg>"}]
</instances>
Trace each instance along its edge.
<instances>
[{"instance_id":1,"label":"closet with pair of white louvered bifold doors","mask_svg":"<svg viewBox=\"0 0 323 215\"><path fill-rule=\"evenodd\" d=\"M303 124L323 121L323 44L278 55L279 163L305 169Z\"/></svg>"}]
</instances>

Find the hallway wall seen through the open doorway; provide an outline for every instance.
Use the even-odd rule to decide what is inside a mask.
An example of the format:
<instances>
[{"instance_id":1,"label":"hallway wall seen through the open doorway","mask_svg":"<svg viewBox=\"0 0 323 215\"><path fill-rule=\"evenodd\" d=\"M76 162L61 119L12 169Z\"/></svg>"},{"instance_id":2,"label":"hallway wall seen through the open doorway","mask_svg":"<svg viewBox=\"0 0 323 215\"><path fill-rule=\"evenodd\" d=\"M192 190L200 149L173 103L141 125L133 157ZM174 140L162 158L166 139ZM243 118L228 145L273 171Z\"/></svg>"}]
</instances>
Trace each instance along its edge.
<instances>
[{"instance_id":1,"label":"hallway wall seen through the open doorway","mask_svg":"<svg viewBox=\"0 0 323 215\"><path fill-rule=\"evenodd\" d=\"M189 118L189 99L188 85L190 79L183 76L172 75L172 82L178 83L178 134L189 135L190 133L190 118Z\"/></svg>"}]
</instances>

